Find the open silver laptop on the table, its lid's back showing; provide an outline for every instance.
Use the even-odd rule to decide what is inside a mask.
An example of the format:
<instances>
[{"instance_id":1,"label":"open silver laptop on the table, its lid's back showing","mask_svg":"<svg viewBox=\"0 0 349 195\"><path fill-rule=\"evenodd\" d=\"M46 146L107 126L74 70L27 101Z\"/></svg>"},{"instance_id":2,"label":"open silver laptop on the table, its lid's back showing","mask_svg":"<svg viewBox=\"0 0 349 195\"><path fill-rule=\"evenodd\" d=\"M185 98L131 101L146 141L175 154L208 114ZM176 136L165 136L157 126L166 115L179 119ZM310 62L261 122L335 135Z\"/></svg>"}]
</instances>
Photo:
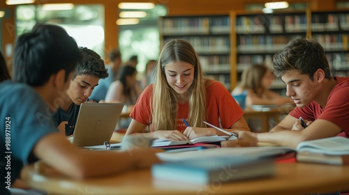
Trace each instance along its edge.
<instances>
[{"instance_id":1,"label":"open silver laptop on the table, its lid's back showing","mask_svg":"<svg viewBox=\"0 0 349 195\"><path fill-rule=\"evenodd\" d=\"M82 103L73 139L77 147L101 145L110 141L124 103Z\"/></svg>"}]
</instances>

